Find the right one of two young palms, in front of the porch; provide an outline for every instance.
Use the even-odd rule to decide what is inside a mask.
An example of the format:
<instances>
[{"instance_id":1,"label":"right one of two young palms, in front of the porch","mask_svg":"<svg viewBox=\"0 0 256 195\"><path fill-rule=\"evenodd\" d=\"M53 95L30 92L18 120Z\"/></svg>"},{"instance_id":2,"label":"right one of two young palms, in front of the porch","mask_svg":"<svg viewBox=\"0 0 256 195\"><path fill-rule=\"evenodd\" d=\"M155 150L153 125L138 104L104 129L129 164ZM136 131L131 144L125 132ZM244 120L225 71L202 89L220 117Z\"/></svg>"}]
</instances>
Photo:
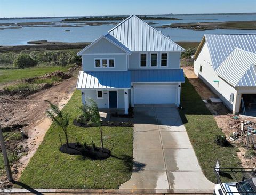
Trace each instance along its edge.
<instances>
[{"instance_id":1,"label":"right one of two young palms, in front of the porch","mask_svg":"<svg viewBox=\"0 0 256 195\"><path fill-rule=\"evenodd\" d=\"M102 126L101 126L101 120L100 120L100 112L99 112L99 108L97 103L90 99L87 98L87 102L89 102L89 104L85 104L83 105L83 107L81 107L81 109L83 110L83 112L87 112L86 116L88 117L88 125L95 125L97 127L99 127L100 129L100 141L101 141L101 151L103 152L104 150L104 145L103 145L103 130L102 130Z\"/></svg>"}]
</instances>

